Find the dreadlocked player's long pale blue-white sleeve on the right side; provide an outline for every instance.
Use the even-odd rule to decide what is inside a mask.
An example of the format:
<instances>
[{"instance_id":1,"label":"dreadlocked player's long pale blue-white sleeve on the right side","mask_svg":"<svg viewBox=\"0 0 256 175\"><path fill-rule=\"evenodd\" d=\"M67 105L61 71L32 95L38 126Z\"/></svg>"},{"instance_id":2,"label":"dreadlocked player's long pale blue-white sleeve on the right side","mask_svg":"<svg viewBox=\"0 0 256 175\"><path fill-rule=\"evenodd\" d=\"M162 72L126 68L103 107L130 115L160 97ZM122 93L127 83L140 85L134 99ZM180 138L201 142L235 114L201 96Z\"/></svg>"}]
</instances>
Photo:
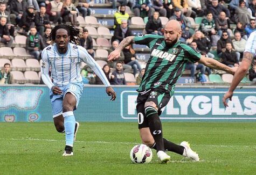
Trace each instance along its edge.
<instances>
[{"instance_id":1,"label":"dreadlocked player's long pale blue-white sleeve on the right side","mask_svg":"<svg viewBox=\"0 0 256 175\"><path fill-rule=\"evenodd\" d=\"M103 70L101 69L100 65L96 63L96 61L93 59L91 55L88 54L87 50L83 47L78 48L79 52L79 59L82 62L85 62L89 65L89 67L92 68L92 70L95 72L95 74L101 79L102 83L108 87L110 86L110 83L108 82L108 79L106 75L104 74Z\"/></svg>"}]
</instances>

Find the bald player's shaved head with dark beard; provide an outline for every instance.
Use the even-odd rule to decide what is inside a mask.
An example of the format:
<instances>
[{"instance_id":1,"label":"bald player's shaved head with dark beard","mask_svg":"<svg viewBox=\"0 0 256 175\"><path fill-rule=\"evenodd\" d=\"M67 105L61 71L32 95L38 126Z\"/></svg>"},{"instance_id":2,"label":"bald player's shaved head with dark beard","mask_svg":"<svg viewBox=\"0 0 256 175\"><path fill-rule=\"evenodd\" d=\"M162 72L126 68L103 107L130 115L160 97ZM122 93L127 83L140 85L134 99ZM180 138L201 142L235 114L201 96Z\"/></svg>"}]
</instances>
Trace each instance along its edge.
<instances>
[{"instance_id":1,"label":"bald player's shaved head with dark beard","mask_svg":"<svg viewBox=\"0 0 256 175\"><path fill-rule=\"evenodd\" d=\"M164 40L167 46L172 47L181 37L182 30L179 21L169 20L164 27Z\"/></svg>"}]
</instances>

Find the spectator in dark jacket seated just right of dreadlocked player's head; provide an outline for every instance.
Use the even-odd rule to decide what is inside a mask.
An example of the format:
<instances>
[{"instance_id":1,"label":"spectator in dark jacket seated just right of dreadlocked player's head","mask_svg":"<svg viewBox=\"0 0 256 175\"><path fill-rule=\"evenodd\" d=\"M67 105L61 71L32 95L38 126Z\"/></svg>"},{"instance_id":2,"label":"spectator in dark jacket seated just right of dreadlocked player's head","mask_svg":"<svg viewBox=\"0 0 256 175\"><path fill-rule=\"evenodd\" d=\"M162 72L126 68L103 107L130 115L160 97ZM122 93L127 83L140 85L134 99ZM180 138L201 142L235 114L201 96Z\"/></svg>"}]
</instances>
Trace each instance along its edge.
<instances>
[{"instance_id":1,"label":"spectator in dark jacket seated just right of dreadlocked player's head","mask_svg":"<svg viewBox=\"0 0 256 175\"><path fill-rule=\"evenodd\" d=\"M80 38L80 46L86 48L88 54L94 58L95 52L93 50L93 39L89 35L89 32L86 28L84 28L82 32L82 38Z\"/></svg>"}]
</instances>

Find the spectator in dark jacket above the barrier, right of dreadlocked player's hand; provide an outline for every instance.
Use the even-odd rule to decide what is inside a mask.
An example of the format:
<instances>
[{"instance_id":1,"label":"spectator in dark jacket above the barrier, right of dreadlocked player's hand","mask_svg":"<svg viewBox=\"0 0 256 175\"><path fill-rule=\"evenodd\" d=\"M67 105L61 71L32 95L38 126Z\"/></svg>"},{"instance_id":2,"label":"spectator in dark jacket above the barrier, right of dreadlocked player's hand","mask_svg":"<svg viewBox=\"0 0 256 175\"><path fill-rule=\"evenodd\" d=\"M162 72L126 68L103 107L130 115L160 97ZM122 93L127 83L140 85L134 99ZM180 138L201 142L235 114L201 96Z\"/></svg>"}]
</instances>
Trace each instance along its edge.
<instances>
[{"instance_id":1,"label":"spectator in dark jacket above the barrier, right of dreadlocked player's hand","mask_svg":"<svg viewBox=\"0 0 256 175\"><path fill-rule=\"evenodd\" d=\"M123 64L120 61L116 63L115 70L110 76L110 84L126 85L126 79L124 78L123 74Z\"/></svg>"}]
</instances>

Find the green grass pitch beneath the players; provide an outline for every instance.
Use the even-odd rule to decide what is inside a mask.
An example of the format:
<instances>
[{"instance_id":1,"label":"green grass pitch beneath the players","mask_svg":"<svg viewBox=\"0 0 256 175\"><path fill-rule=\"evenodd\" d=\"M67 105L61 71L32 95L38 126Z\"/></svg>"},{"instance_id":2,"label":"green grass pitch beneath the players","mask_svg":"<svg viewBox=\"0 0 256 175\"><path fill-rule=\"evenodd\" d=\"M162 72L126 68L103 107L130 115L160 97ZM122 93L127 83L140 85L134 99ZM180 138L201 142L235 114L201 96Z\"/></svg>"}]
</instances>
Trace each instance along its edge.
<instances>
[{"instance_id":1,"label":"green grass pitch beneath the players","mask_svg":"<svg viewBox=\"0 0 256 175\"><path fill-rule=\"evenodd\" d=\"M81 123L74 156L61 156L65 134L53 123L0 123L0 174L255 174L256 123L163 123L168 140L189 141L200 162L168 152L160 164L133 164L137 123Z\"/></svg>"}]
</instances>

